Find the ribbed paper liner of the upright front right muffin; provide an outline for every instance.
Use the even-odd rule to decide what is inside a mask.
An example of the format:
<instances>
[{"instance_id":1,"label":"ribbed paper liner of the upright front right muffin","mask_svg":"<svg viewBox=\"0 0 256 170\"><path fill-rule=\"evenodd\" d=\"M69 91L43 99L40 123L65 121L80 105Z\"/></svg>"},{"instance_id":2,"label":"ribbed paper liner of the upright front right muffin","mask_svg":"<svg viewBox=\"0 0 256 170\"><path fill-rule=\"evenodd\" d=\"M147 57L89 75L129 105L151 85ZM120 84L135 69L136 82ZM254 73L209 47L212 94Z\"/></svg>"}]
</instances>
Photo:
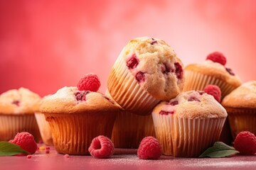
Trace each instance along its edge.
<instances>
[{"instance_id":1,"label":"ribbed paper liner of the upright front right muffin","mask_svg":"<svg viewBox=\"0 0 256 170\"><path fill-rule=\"evenodd\" d=\"M187 119L152 115L162 154L174 157L199 157L219 140L225 123L225 118Z\"/></svg>"}]
</instances>

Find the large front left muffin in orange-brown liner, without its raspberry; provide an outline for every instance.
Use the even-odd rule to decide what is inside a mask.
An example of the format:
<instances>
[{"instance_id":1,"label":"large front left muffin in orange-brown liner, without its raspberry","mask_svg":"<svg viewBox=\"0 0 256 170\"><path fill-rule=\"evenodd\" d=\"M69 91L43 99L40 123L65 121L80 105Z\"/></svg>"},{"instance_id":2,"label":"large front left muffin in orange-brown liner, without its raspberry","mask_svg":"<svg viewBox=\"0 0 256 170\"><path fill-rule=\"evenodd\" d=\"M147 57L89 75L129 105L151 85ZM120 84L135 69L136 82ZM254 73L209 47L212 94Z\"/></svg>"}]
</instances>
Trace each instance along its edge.
<instances>
[{"instance_id":1,"label":"large front left muffin in orange-brown liner, without its raspberry","mask_svg":"<svg viewBox=\"0 0 256 170\"><path fill-rule=\"evenodd\" d=\"M99 92L65 86L44 98L40 111L50 124L58 153L89 154L94 137L111 137L119 107Z\"/></svg>"}]
</instances>

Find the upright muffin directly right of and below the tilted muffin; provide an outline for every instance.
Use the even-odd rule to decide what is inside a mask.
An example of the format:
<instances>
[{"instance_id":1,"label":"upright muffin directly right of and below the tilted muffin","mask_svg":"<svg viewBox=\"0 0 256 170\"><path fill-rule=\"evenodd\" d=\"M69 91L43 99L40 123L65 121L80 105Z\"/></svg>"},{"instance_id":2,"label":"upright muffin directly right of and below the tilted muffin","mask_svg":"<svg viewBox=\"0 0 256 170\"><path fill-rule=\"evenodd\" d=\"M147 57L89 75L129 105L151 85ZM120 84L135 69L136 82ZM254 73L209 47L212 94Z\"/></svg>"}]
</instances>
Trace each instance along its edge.
<instances>
[{"instance_id":1,"label":"upright muffin directly right of and below the tilted muffin","mask_svg":"<svg viewBox=\"0 0 256 170\"><path fill-rule=\"evenodd\" d=\"M219 140L225 108L203 91L186 91L153 110L156 138L162 154L198 157Z\"/></svg>"}]
</instances>

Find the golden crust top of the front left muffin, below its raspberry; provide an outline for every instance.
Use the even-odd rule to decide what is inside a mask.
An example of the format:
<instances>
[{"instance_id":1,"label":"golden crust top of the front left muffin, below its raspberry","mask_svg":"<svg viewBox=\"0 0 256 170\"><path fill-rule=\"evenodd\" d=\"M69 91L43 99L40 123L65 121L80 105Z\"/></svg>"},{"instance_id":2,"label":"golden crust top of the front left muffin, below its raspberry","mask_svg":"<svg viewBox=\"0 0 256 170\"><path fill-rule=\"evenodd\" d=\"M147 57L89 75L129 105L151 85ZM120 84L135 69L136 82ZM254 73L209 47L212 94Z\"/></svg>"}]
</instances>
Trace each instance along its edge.
<instances>
[{"instance_id":1,"label":"golden crust top of the front left muffin, below its raspberry","mask_svg":"<svg viewBox=\"0 0 256 170\"><path fill-rule=\"evenodd\" d=\"M43 98L41 113L85 113L87 111L97 111L98 113L116 112L119 107L99 92L90 91L86 94L85 101L78 101L75 94L77 87L63 87L55 94Z\"/></svg>"}]
</instances>

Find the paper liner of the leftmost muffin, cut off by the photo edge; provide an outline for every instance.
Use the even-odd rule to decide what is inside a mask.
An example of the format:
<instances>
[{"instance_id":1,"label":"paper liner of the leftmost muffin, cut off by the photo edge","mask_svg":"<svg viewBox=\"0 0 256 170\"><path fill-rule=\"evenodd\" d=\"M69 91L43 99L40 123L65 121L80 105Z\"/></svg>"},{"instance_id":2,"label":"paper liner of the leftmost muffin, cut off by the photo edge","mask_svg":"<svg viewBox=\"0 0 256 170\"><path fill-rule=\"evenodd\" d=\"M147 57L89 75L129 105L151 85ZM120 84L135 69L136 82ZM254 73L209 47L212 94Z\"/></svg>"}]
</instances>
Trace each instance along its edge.
<instances>
[{"instance_id":1,"label":"paper liner of the leftmost muffin, cut off by the photo edge","mask_svg":"<svg viewBox=\"0 0 256 170\"><path fill-rule=\"evenodd\" d=\"M34 114L0 115L0 125L0 141L12 140L18 132L29 132L36 142L41 140Z\"/></svg>"}]
</instances>

